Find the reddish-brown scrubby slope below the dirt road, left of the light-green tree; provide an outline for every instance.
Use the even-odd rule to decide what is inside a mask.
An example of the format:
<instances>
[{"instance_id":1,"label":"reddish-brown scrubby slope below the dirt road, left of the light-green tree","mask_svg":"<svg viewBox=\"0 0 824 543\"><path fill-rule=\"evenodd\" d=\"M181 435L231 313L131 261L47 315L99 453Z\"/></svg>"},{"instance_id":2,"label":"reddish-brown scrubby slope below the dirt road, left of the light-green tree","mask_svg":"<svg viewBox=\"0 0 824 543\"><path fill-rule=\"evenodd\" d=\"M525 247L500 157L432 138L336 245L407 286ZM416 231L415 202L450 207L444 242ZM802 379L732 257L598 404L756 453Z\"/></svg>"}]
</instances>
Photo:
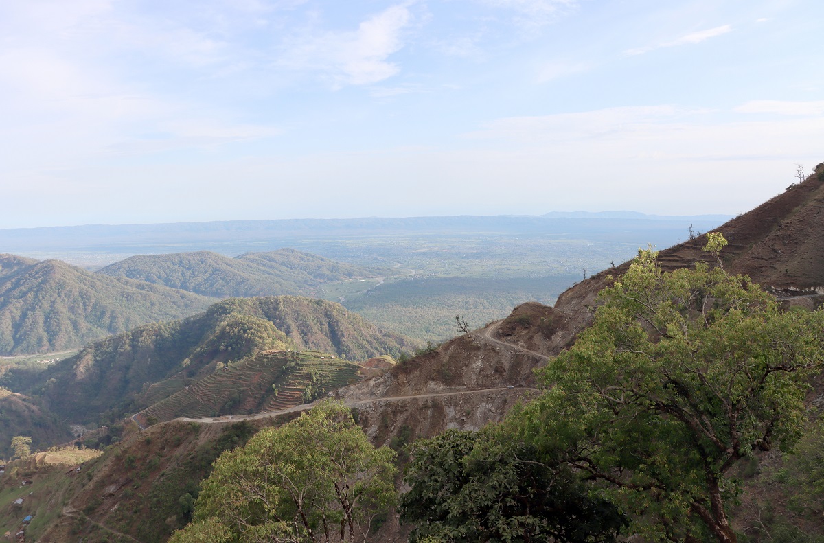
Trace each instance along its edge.
<instances>
[{"instance_id":1,"label":"reddish-brown scrubby slope below the dirt road, left of the light-green tree","mask_svg":"<svg viewBox=\"0 0 824 543\"><path fill-rule=\"evenodd\" d=\"M129 541L101 524L138 541L166 541L190 519L181 499L196 497L220 453L244 444L257 429L249 423L170 423L130 433L94 461L82 488L74 489L68 499L74 517L58 519L39 541Z\"/></svg>"}]
</instances>

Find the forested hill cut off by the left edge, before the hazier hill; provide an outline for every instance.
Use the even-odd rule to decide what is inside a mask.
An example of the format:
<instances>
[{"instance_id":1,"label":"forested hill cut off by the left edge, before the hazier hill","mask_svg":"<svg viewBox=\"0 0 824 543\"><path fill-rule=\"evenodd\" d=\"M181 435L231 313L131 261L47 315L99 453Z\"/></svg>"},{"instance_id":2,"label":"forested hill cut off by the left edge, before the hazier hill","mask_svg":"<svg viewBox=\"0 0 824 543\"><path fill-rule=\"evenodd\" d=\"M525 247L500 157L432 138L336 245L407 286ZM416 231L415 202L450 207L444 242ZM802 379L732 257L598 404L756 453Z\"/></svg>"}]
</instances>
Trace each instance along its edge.
<instances>
[{"instance_id":1,"label":"forested hill cut off by the left edge, before the hazier hill","mask_svg":"<svg viewBox=\"0 0 824 543\"><path fill-rule=\"evenodd\" d=\"M0 355L72 349L147 322L203 311L212 302L59 260L0 255Z\"/></svg>"}]
</instances>

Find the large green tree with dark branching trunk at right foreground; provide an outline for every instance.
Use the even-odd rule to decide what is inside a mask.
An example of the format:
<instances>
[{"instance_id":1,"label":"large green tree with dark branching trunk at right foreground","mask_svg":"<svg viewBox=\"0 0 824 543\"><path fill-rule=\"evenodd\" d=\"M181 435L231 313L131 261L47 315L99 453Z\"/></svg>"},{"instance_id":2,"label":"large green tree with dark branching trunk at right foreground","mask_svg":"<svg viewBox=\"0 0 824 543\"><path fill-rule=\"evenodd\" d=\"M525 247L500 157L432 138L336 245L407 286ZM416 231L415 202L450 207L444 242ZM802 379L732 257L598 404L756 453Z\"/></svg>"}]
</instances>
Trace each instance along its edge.
<instances>
[{"instance_id":1,"label":"large green tree with dark branching trunk at right foreground","mask_svg":"<svg viewBox=\"0 0 824 543\"><path fill-rule=\"evenodd\" d=\"M716 256L725 240L710 238ZM803 426L824 313L780 311L720 267L664 273L652 250L606 288L592 326L538 374L510 431L579 470L655 541L734 543L730 470Z\"/></svg>"}]
</instances>

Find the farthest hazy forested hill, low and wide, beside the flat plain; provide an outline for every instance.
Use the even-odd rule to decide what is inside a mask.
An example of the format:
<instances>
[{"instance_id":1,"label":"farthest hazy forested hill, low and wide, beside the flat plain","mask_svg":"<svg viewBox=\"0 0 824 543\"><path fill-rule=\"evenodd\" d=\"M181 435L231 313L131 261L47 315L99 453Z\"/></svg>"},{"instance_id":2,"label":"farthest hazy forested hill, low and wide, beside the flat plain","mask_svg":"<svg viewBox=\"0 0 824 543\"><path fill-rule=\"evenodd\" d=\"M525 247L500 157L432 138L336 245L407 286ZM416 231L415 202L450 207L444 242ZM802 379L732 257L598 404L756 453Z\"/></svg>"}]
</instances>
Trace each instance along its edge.
<instances>
[{"instance_id":1,"label":"farthest hazy forested hill, low and wide, beside the flat plain","mask_svg":"<svg viewBox=\"0 0 824 543\"><path fill-rule=\"evenodd\" d=\"M343 264L294 249L247 253L236 258L208 250L171 255L137 255L99 274L138 279L214 297L311 294L318 285L391 273Z\"/></svg>"}]
</instances>

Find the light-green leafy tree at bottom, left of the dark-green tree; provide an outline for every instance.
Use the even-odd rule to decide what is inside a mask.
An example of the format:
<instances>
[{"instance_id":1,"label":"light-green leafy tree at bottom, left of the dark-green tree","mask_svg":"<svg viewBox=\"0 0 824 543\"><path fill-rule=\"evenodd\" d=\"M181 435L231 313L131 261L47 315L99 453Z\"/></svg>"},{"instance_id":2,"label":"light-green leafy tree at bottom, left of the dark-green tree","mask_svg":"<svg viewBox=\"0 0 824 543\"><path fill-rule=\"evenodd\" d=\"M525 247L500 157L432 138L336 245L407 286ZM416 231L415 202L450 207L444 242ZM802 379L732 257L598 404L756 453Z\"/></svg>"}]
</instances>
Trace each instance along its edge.
<instances>
[{"instance_id":1,"label":"light-green leafy tree at bottom, left of the dark-green tree","mask_svg":"<svg viewBox=\"0 0 824 543\"><path fill-rule=\"evenodd\" d=\"M170 541L365 541L395 504L394 459L372 447L348 408L325 400L223 453L194 521Z\"/></svg>"}]
</instances>

